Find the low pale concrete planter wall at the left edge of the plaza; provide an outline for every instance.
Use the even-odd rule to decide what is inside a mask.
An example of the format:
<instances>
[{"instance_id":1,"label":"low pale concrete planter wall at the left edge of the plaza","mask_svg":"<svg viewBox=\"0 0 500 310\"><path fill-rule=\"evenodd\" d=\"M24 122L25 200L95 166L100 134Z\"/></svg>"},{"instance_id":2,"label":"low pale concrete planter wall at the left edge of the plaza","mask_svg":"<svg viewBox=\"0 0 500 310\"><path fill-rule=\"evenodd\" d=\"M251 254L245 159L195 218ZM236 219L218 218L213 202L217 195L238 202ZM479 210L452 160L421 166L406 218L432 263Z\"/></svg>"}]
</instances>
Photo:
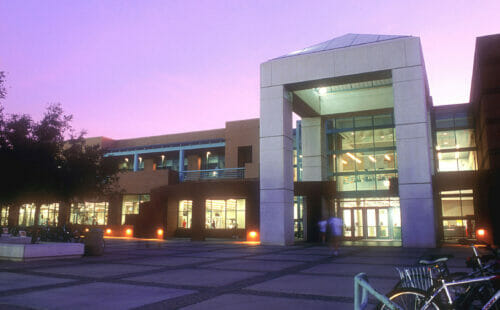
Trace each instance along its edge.
<instances>
[{"instance_id":1,"label":"low pale concrete planter wall at the left edge of the plaza","mask_svg":"<svg viewBox=\"0 0 500 310\"><path fill-rule=\"evenodd\" d=\"M82 243L0 243L1 260L32 261L42 259L77 258L81 257L83 252L84 245Z\"/></svg>"}]
</instances>

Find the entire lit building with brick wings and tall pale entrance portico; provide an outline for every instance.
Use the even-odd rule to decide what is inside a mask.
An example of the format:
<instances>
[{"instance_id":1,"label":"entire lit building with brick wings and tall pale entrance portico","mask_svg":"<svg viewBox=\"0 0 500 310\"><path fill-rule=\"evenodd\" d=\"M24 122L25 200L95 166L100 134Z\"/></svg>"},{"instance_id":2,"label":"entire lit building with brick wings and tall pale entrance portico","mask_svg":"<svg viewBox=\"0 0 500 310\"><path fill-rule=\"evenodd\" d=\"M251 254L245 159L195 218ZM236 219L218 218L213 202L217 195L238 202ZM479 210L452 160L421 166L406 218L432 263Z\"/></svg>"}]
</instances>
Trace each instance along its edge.
<instances>
[{"instance_id":1,"label":"entire lit building with brick wings and tall pale entrance portico","mask_svg":"<svg viewBox=\"0 0 500 310\"><path fill-rule=\"evenodd\" d=\"M38 218L34 204L2 206L0 225L287 245L317 240L316 223L336 215L348 243L435 247L478 228L493 240L499 49L499 35L478 38L471 102L439 107L418 37L347 34L271 59L260 119L88 139L119 161L120 192L42 205Z\"/></svg>"}]
</instances>

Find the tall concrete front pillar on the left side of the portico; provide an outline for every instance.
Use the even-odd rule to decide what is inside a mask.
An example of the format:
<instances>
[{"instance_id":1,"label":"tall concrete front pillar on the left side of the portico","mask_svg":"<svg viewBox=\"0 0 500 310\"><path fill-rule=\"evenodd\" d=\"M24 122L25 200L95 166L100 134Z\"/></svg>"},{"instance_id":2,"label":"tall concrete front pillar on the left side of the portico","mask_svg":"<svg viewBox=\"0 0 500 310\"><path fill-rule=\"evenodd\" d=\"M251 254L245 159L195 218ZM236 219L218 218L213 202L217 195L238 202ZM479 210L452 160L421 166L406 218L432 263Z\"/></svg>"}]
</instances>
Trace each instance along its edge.
<instances>
[{"instance_id":1,"label":"tall concrete front pillar on the left side of the portico","mask_svg":"<svg viewBox=\"0 0 500 310\"><path fill-rule=\"evenodd\" d=\"M288 245L294 241L291 98L282 85L260 92L260 240Z\"/></svg>"}]
</instances>

